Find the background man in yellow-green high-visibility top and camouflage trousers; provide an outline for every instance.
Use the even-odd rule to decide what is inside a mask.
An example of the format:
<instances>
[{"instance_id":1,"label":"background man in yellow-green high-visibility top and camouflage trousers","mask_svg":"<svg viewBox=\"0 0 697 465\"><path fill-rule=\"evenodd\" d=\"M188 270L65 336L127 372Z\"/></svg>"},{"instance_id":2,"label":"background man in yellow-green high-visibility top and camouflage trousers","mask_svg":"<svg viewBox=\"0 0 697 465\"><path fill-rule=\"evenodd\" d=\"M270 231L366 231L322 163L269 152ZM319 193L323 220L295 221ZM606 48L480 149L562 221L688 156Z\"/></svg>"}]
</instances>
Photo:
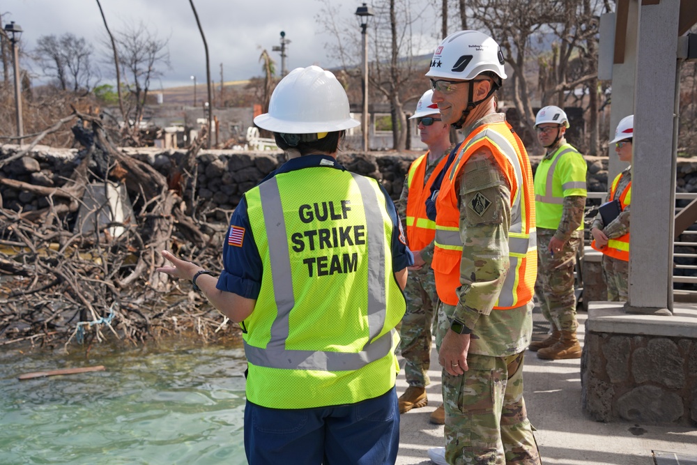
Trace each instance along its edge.
<instances>
[{"instance_id":1,"label":"background man in yellow-green high-visibility top and camouflage trousers","mask_svg":"<svg viewBox=\"0 0 697 465\"><path fill-rule=\"evenodd\" d=\"M583 247L585 173L583 155L564 137L569 119L560 107L537 112L537 140L546 153L535 171L535 222L537 223L537 298L551 333L530 344L538 358L581 358L576 337L574 268Z\"/></svg>"}]
</instances>

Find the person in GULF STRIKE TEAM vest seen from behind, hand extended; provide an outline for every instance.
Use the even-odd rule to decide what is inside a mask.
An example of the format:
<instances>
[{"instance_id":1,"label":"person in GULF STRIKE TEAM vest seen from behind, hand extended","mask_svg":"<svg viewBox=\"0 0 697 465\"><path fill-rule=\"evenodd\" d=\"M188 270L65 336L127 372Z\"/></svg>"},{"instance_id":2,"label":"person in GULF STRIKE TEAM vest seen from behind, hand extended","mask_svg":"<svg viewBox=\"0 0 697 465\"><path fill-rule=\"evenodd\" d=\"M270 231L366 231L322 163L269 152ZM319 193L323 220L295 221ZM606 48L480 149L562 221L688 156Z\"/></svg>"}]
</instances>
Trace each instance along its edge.
<instances>
[{"instance_id":1,"label":"person in GULF STRIKE TEAM vest seen from behind, hand extended","mask_svg":"<svg viewBox=\"0 0 697 465\"><path fill-rule=\"evenodd\" d=\"M395 326L413 264L390 197L336 160L351 119L332 73L279 82L259 127L289 161L247 191L224 270L163 256L243 328L250 464L393 464L399 446Z\"/></svg>"}]
</instances>

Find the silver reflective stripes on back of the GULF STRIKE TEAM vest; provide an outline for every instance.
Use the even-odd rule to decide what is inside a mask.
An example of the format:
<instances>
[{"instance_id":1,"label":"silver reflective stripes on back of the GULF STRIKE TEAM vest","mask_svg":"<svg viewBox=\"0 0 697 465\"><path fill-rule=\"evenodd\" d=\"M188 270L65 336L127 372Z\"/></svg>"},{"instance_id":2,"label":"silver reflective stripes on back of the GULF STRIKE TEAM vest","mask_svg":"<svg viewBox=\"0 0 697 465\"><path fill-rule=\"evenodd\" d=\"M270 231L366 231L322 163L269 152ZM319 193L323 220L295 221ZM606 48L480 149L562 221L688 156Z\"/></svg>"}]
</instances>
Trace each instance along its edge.
<instances>
[{"instance_id":1,"label":"silver reflective stripes on back of the GULF STRIKE TEAM vest","mask_svg":"<svg viewBox=\"0 0 697 465\"><path fill-rule=\"evenodd\" d=\"M392 350L394 330L374 340L383 330L387 312L383 214L379 208L376 192L367 178L352 175L362 196L367 222L369 342L358 353L296 351L285 348L290 332L289 314L295 305L293 274L278 183L276 178L270 178L259 185L259 196L268 238L277 317L271 324L270 340L266 348L251 346L245 342L245 355L253 365L331 372L355 370L383 358Z\"/></svg>"}]
</instances>

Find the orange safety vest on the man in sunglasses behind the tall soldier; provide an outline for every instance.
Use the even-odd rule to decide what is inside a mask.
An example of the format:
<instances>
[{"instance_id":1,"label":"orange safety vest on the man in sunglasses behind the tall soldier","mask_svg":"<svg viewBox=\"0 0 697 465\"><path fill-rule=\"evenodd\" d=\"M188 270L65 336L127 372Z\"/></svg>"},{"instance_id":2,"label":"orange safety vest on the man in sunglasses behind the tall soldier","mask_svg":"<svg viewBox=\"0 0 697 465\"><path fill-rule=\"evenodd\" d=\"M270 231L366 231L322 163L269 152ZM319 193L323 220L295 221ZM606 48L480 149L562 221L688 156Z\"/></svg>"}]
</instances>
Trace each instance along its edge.
<instances>
[{"instance_id":1,"label":"orange safety vest on the man in sunglasses behind the tall soldier","mask_svg":"<svg viewBox=\"0 0 697 465\"><path fill-rule=\"evenodd\" d=\"M438 162L429 176L429 181L424 184L428 157L429 152L426 152L414 160L406 178L406 185L409 188L409 196L406 199L406 238L411 250L421 250L436 236L436 222L429 220L426 215L426 200L431 195L431 185L445 167L447 157L443 157Z\"/></svg>"}]
</instances>

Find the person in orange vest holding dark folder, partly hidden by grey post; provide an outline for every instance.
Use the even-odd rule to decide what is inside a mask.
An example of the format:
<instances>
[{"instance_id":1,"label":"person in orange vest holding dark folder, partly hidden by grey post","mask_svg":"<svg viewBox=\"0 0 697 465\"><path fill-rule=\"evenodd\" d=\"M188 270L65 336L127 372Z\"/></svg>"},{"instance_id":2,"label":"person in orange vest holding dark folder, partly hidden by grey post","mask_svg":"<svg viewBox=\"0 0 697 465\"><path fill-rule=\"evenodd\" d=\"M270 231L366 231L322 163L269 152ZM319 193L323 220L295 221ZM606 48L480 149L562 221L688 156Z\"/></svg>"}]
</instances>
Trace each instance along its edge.
<instances>
[{"instance_id":1,"label":"person in orange vest holding dark folder, partly hidden by grey post","mask_svg":"<svg viewBox=\"0 0 697 465\"><path fill-rule=\"evenodd\" d=\"M631 163L634 115L625 116L615 130L615 152L622 162ZM627 301L629 279L629 204L631 203L631 165L608 186L608 203L593 220L591 247L603 252L603 270L608 300Z\"/></svg>"}]
</instances>

